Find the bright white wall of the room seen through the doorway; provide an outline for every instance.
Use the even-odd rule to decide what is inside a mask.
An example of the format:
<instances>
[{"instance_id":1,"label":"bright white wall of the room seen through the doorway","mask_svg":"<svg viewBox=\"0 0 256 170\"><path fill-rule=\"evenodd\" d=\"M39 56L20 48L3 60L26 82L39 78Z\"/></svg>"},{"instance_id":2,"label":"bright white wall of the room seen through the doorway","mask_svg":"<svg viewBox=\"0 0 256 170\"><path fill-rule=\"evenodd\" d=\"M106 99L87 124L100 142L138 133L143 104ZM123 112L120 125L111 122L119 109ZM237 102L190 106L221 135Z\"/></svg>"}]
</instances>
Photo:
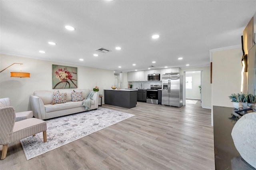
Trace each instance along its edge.
<instances>
[{"instance_id":1,"label":"bright white wall of the room seen through the doorway","mask_svg":"<svg viewBox=\"0 0 256 170\"><path fill-rule=\"evenodd\" d=\"M192 77L192 89L186 89L186 99L201 100L199 85L201 85L201 73L186 72L186 77Z\"/></svg>"}]
</instances>

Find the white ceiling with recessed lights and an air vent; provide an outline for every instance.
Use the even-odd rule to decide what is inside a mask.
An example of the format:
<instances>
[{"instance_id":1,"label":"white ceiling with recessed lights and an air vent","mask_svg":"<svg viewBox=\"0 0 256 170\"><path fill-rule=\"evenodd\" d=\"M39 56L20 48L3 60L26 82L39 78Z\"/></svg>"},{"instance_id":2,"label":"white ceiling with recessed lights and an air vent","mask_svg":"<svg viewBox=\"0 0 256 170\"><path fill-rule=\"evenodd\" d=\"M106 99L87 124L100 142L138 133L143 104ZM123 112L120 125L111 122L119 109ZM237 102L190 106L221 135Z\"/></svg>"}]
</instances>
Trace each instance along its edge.
<instances>
[{"instance_id":1,"label":"white ceiling with recessed lights and an air vent","mask_svg":"<svg viewBox=\"0 0 256 170\"><path fill-rule=\"evenodd\" d=\"M0 53L117 73L209 66L209 50L240 45L255 13L255 0L1 0Z\"/></svg>"}]
</instances>

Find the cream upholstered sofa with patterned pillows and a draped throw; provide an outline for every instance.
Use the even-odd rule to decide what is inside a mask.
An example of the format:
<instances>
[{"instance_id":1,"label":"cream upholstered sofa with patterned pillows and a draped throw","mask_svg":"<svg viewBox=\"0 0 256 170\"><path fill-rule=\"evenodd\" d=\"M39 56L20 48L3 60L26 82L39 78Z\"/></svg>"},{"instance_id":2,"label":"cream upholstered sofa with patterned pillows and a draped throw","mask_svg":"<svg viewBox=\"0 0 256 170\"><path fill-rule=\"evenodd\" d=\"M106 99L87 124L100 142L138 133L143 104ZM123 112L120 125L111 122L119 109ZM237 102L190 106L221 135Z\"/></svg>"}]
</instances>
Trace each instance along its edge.
<instances>
[{"instance_id":1,"label":"cream upholstered sofa with patterned pillows and a draped throw","mask_svg":"<svg viewBox=\"0 0 256 170\"><path fill-rule=\"evenodd\" d=\"M59 89L60 93L67 93L66 103L52 105L53 92L56 91L58 90L35 91L34 95L30 95L34 117L44 120L86 111L85 107L82 106L82 101L72 101L71 92L73 89ZM82 91L83 98L86 98L90 92L89 89L75 89L75 91ZM90 110L98 109L98 100L99 93L95 92L92 96Z\"/></svg>"}]
</instances>

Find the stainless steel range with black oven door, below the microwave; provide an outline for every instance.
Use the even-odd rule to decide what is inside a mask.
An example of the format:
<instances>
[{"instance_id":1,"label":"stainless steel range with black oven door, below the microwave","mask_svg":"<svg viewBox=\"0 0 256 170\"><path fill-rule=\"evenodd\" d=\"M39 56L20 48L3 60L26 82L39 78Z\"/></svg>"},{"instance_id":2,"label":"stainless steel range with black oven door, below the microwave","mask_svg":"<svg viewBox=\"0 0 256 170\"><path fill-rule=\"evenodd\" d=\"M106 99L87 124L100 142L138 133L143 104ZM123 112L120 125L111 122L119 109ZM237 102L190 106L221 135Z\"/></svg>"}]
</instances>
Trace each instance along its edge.
<instances>
[{"instance_id":1,"label":"stainless steel range with black oven door, below the microwave","mask_svg":"<svg viewBox=\"0 0 256 170\"><path fill-rule=\"evenodd\" d=\"M158 89L162 89L162 85L150 85L150 89L147 89L147 103L158 105Z\"/></svg>"}]
</instances>

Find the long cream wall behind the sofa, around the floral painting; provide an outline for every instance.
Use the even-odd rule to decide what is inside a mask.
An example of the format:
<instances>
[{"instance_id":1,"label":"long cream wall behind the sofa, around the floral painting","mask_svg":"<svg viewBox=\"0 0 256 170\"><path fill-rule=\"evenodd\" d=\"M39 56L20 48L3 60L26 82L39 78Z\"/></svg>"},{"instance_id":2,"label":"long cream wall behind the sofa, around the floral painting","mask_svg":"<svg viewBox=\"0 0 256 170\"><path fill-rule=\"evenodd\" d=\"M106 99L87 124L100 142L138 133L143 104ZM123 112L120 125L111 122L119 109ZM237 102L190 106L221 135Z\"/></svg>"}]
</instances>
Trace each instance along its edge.
<instances>
[{"instance_id":1,"label":"long cream wall behind the sofa, around the floral painting","mask_svg":"<svg viewBox=\"0 0 256 170\"><path fill-rule=\"evenodd\" d=\"M0 98L9 97L11 105L16 112L28 111L30 109L29 96L36 90L52 90L52 64L77 67L78 89L92 89L97 85L99 93L103 89L110 89L114 82L112 70L70 65L52 61L16 57L11 55L0 55L0 70L12 63L23 63L22 72L30 73L30 78L10 77L10 71L20 71L20 65L12 65L3 71L0 79ZM104 97L102 98L104 103Z\"/></svg>"}]
</instances>

